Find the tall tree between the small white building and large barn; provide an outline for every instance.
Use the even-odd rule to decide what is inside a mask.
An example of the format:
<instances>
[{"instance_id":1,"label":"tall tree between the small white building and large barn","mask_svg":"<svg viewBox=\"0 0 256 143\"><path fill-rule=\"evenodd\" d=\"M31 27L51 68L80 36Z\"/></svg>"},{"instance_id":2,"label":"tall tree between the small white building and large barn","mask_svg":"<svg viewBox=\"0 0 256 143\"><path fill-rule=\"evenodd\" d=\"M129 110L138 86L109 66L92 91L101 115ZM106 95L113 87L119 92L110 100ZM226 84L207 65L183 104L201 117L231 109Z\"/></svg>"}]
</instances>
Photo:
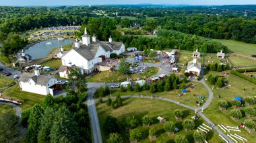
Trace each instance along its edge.
<instances>
[{"instance_id":1,"label":"tall tree between the small white building and large barn","mask_svg":"<svg viewBox=\"0 0 256 143\"><path fill-rule=\"evenodd\" d=\"M78 91L80 93L87 91L86 76L82 74L80 68L72 69L68 75L68 79L68 89L71 89L72 91Z\"/></svg>"}]
</instances>

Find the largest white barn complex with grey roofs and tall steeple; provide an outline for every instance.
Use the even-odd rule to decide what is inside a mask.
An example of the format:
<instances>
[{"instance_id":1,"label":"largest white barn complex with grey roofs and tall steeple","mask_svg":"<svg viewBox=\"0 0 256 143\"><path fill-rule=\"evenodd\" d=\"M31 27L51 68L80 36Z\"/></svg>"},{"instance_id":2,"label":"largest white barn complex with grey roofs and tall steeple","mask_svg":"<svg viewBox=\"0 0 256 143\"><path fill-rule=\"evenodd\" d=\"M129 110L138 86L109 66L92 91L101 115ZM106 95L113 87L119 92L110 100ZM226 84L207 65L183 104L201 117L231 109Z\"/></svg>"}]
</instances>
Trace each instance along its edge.
<instances>
[{"instance_id":1,"label":"largest white barn complex with grey roofs and tall steeple","mask_svg":"<svg viewBox=\"0 0 256 143\"><path fill-rule=\"evenodd\" d=\"M73 43L72 49L61 58L62 65L77 66L84 69L85 73L91 73L99 62L110 58L110 54L119 55L125 52L125 44L113 42L111 36L108 39L108 42L103 42L93 36L91 42L85 28L82 42L76 40Z\"/></svg>"}]
</instances>

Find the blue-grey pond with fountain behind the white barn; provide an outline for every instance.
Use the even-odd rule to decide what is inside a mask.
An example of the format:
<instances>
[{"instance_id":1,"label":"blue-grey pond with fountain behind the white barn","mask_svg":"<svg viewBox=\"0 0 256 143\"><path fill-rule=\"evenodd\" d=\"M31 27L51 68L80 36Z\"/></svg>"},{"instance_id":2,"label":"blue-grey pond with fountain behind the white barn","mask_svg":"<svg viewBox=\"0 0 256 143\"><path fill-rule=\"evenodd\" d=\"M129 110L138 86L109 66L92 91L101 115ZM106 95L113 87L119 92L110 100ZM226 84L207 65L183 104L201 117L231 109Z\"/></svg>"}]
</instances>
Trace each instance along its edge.
<instances>
[{"instance_id":1,"label":"blue-grey pond with fountain behind the white barn","mask_svg":"<svg viewBox=\"0 0 256 143\"><path fill-rule=\"evenodd\" d=\"M53 48L60 48L61 46L65 46L71 44L74 40L65 39L63 41L59 40L46 40L30 46L27 50L25 50L25 54L29 54L32 56L32 59L40 59L44 58L49 54L49 51ZM53 45L46 46L45 44L51 42Z\"/></svg>"}]
</instances>

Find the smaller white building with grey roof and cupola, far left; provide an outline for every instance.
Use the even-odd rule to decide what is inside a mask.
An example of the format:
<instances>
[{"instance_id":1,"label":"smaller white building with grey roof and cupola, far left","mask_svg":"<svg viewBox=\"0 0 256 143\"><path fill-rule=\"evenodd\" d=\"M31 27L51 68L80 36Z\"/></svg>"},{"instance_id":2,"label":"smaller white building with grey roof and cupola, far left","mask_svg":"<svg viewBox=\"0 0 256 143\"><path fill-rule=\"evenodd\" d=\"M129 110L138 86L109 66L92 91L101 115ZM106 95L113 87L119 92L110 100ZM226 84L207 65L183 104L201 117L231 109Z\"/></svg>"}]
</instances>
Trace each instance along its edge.
<instances>
[{"instance_id":1,"label":"smaller white building with grey roof and cupola, far left","mask_svg":"<svg viewBox=\"0 0 256 143\"><path fill-rule=\"evenodd\" d=\"M49 76L39 75L39 71L35 70L35 74L23 73L19 79L20 89L30 93L39 95L53 95L53 90L57 89L57 79Z\"/></svg>"}]
</instances>

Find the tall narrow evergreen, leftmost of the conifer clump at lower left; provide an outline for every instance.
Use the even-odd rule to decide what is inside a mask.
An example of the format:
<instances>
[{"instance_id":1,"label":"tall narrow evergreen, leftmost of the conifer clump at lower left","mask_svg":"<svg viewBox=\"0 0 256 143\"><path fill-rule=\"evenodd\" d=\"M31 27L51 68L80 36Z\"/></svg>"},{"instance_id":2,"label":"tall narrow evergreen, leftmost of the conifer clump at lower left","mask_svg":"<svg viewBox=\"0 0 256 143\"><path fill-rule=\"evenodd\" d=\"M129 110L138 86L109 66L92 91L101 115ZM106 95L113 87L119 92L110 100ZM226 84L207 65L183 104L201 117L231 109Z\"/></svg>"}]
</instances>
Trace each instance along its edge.
<instances>
[{"instance_id":1,"label":"tall narrow evergreen, leftmost of the conifer clump at lower left","mask_svg":"<svg viewBox=\"0 0 256 143\"><path fill-rule=\"evenodd\" d=\"M28 119L28 132L26 134L26 142L37 142L38 127L42 117L43 109L40 105L35 104Z\"/></svg>"}]
</instances>

